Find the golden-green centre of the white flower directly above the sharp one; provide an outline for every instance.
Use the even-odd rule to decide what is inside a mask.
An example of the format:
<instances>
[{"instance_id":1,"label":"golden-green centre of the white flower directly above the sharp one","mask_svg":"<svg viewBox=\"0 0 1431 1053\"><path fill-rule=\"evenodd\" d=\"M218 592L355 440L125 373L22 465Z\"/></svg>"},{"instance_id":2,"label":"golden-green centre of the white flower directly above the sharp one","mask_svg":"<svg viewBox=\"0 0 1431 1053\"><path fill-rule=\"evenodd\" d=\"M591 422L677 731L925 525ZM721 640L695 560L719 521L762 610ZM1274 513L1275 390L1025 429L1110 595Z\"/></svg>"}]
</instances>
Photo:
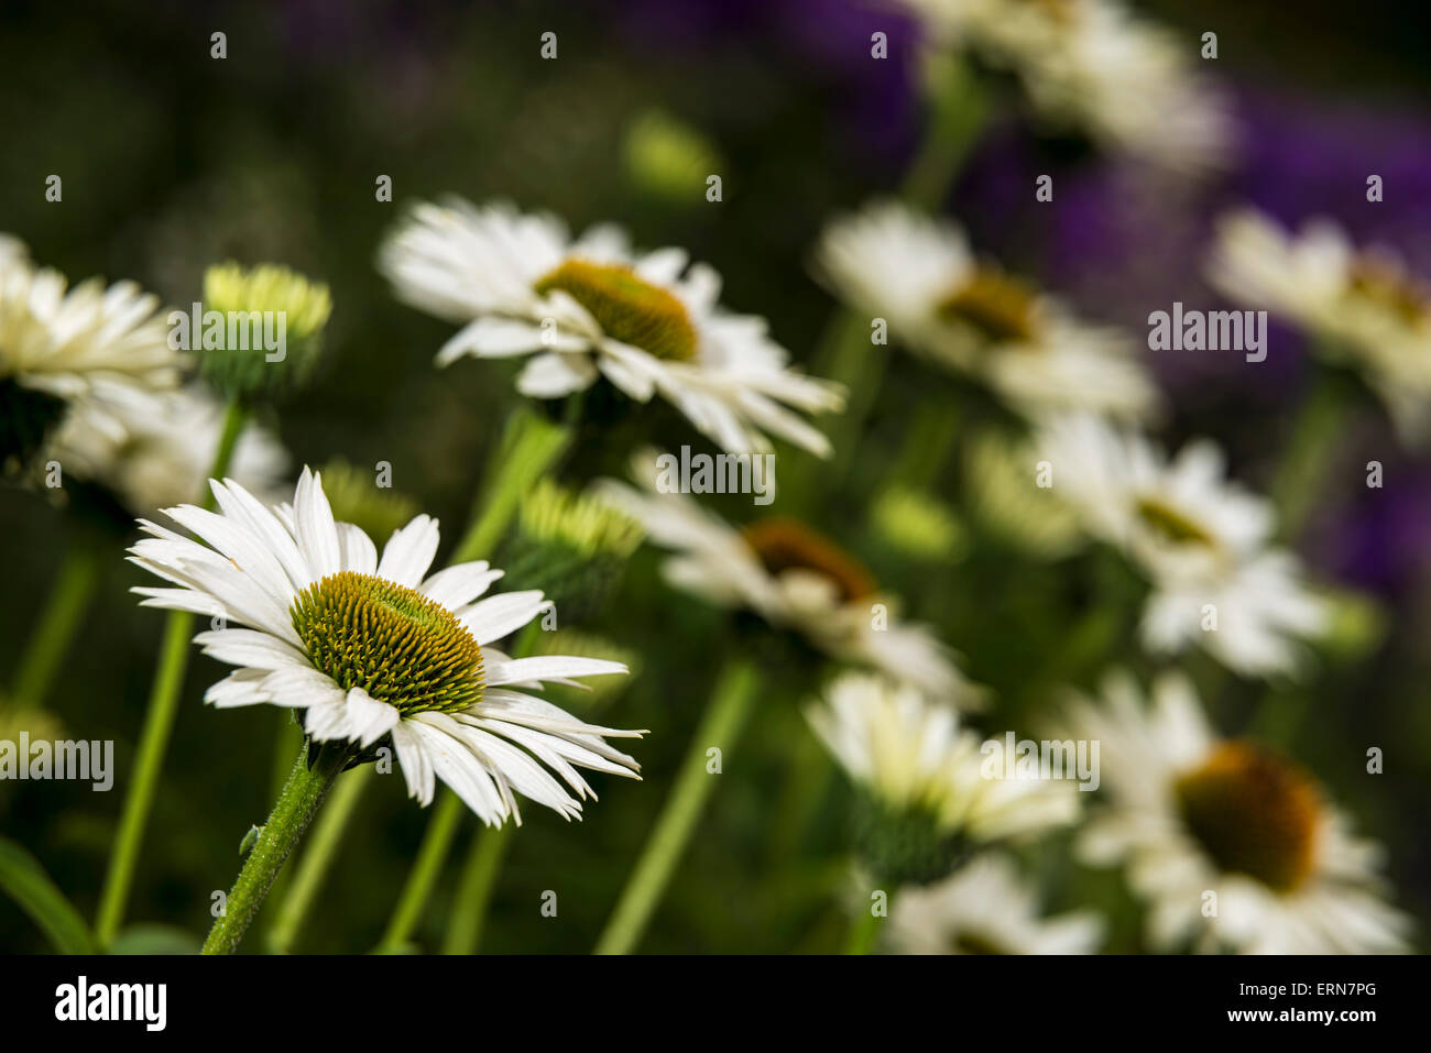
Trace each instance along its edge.
<instances>
[{"instance_id":1,"label":"golden-green centre of the white flower directly above the sharp one","mask_svg":"<svg viewBox=\"0 0 1431 1053\"><path fill-rule=\"evenodd\" d=\"M695 326L685 305L631 268L568 259L534 288L542 295L561 289L614 341L673 362L695 358Z\"/></svg>"}]
</instances>

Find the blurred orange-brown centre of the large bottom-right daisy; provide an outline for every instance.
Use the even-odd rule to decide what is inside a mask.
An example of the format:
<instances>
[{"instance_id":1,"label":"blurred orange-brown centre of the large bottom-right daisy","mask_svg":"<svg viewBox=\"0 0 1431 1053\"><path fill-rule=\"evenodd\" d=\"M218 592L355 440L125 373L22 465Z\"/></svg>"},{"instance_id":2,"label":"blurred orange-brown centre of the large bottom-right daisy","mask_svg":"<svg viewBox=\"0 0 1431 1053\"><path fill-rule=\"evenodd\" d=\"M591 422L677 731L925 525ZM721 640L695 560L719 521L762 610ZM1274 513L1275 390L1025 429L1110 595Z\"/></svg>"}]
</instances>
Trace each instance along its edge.
<instances>
[{"instance_id":1,"label":"blurred orange-brown centre of the large bottom-right daisy","mask_svg":"<svg viewBox=\"0 0 1431 1053\"><path fill-rule=\"evenodd\" d=\"M1321 801L1298 768L1248 743L1222 743L1175 787L1183 821L1219 870L1278 891L1312 871Z\"/></svg>"}]
</instances>

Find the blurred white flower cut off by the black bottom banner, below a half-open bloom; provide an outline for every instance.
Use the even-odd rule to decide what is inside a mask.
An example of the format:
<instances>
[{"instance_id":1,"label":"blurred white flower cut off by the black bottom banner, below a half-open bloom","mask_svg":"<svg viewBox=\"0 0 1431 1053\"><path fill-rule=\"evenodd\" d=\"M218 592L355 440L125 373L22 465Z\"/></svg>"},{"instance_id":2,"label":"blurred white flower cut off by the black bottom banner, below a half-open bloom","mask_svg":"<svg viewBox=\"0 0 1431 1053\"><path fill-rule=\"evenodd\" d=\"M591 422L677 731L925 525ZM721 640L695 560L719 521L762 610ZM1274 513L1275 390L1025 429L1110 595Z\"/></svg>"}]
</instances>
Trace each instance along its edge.
<instances>
[{"instance_id":1,"label":"blurred white flower cut off by the black bottom banner, below a half-open bloom","mask_svg":"<svg viewBox=\"0 0 1431 1053\"><path fill-rule=\"evenodd\" d=\"M942 881L903 888L886 943L896 954L1093 954L1105 923L1095 911L1045 917L1003 853L983 853Z\"/></svg>"}]
</instances>

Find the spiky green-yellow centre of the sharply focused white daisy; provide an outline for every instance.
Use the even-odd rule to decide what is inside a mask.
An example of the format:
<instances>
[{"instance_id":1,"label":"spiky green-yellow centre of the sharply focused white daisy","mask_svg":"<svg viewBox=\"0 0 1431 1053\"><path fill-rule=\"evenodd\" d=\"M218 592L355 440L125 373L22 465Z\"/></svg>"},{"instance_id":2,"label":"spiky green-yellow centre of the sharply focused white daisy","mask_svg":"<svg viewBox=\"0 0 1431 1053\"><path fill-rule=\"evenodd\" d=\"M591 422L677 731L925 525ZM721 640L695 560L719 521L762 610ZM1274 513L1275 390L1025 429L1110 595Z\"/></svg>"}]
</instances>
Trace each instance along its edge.
<instances>
[{"instance_id":1,"label":"spiky green-yellow centre of the sharply focused white daisy","mask_svg":"<svg viewBox=\"0 0 1431 1053\"><path fill-rule=\"evenodd\" d=\"M299 592L293 628L313 668L404 715L481 701L482 648L438 602L369 574L331 574Z\"/></svg>"}]
</instances>

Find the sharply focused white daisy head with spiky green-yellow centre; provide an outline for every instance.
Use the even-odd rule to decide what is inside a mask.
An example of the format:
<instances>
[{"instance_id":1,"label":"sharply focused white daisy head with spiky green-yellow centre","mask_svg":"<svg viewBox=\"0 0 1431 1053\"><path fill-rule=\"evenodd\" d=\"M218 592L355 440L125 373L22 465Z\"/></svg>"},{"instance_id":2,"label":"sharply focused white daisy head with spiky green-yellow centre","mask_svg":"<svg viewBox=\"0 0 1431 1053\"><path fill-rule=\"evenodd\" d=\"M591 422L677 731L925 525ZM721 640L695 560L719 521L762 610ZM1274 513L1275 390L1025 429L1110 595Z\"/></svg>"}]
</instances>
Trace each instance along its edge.
<instances>
[{"instance_id":1,"label":"sharply focused white daisy head with spiky green-yellow centre","mask_svg":"<svg viewBox=\"0 0 1431 1053\"><path fill-rule=\"evenodd\" d=\"M425 577L435 519L419 515L394 532L379 559L366 534L333 521L306 468L292 506L265 508L233 481L210 485L218 512L166 509L207 544L142 519L152 537L130 549L132 562L177 587L136 588L145 607L246 627L195 637L239 667L205 701L302 710L316 741L366 750L391 735L409 795L426 805L442 780L489 826L521 823L514 791L580 818L581 800L595 794L577 767L635 777L640 765L604 740L644 733L585 724L532 694L542 681L625 665L495 650L550 604L535 591L481 598L502 577L487 562Z\"/></svg>"}]
</instances>

